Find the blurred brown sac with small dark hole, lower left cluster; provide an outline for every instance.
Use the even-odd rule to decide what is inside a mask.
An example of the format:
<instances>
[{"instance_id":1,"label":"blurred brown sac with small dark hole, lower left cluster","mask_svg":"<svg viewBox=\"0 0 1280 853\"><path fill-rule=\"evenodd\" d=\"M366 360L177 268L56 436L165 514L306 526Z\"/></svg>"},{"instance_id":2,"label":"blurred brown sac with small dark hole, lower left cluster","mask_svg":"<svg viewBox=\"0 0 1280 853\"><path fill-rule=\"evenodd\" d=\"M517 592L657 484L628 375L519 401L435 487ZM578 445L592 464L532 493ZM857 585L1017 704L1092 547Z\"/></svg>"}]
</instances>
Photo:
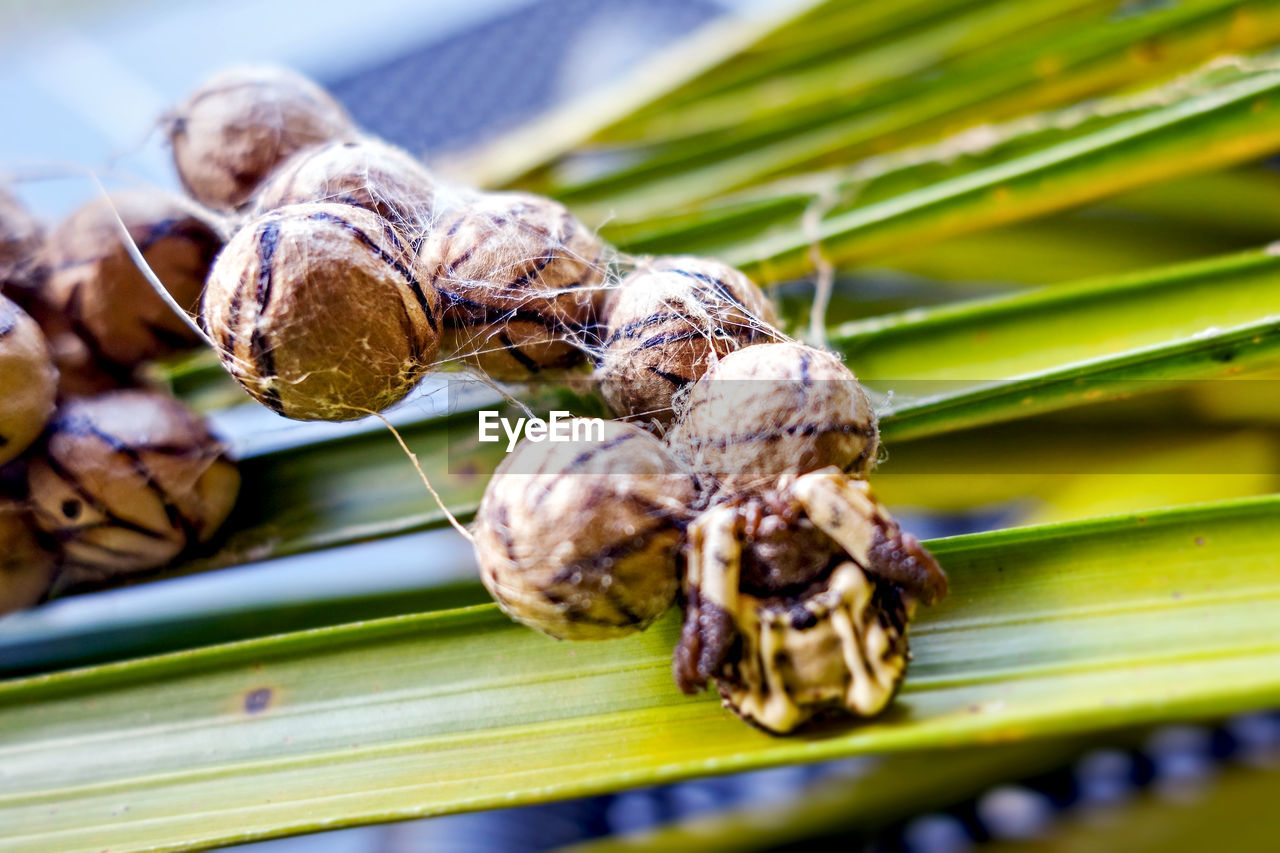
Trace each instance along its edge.
<instances>
[{"instance_id":1,"label":"blurred brown sac with small dark hole, lower left cluster","mask_svg":"<svg viewBox=\"0 0 1280 853\"><path fill-rule=\"evenodd\" d=\"M212 538L239 471L178 401L114 391L64 403L27 471L36 523L74 580L157 569Z\"/></svg>"}]
</instances>

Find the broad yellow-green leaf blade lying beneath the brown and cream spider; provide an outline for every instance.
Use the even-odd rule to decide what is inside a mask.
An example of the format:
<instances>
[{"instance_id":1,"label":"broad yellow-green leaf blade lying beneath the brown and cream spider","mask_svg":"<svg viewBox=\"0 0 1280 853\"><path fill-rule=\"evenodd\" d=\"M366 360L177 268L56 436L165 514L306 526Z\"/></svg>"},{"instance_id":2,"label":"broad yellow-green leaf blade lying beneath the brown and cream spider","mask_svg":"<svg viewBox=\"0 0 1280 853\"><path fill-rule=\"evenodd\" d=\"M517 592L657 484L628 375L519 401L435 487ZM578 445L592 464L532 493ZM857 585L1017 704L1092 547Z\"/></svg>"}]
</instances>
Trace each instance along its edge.
<instances>
[{"instance_id":1,"label":"broad yellow-green leaf blade lying beneath the brown and cream spider","mask_svg":"<svg viewBox=\"0 0 1280 853\"><path fill-rule=\"evenodd\" d=\"M1277 514L1262 498L933 542L952 594L919 619L896 707L820 736L681 695L672 619L566 644L492 606L9 681L3 844L229 843L1257 707L1280 701Z\"/></svg>"}]
</instances>

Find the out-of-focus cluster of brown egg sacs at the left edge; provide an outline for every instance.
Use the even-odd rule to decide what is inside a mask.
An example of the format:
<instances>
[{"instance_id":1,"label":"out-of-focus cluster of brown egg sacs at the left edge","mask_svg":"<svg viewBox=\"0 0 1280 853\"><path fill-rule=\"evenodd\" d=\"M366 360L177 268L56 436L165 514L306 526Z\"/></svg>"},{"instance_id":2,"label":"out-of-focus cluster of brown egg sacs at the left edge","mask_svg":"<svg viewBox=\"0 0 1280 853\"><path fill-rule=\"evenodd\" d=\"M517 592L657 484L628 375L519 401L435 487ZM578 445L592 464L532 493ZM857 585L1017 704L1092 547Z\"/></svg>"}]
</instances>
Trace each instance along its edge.
<instances>
[{"instance_id":1,"label":"out-of-focus cluster of brown egg sacs at the left edge","mask_svg":"<svg viewBox=\"0 0 1280 853\"><path fill-rule=\"evenodd\" d=\"M239 475L202 420L122 389L198 338L134 265L120 224L180 304L221 241L188 205L122 193L47 234L0 204L0 612L159 567L211 539ZM8 240L14 222L29 238ZM24 310L27 309L27 310ZM28 313L29 310L29 313Z\"/></svg>"}]
</instances>

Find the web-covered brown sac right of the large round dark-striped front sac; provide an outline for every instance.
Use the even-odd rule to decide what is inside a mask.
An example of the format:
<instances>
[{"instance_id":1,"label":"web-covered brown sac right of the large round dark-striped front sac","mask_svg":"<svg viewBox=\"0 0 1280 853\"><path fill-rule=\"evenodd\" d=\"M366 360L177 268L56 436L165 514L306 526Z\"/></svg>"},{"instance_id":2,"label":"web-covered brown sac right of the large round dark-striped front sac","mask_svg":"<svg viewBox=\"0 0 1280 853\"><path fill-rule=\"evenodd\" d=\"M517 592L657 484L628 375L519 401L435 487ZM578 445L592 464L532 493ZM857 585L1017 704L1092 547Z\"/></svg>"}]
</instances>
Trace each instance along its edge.
<instances>
[{"instance_id":1,"label":"web-covered brown sac right of the large round dark-striped front sac","mask_svg":"<svg viewBox=\"0 0 1280 853\"><path fill-rule=\"evenodd\" d=\"M499 380L577 364L603 296L602 250L539 196L488 193L445 214L417 259L444 296L442 347Z\"/></svg>"}]
</instances>

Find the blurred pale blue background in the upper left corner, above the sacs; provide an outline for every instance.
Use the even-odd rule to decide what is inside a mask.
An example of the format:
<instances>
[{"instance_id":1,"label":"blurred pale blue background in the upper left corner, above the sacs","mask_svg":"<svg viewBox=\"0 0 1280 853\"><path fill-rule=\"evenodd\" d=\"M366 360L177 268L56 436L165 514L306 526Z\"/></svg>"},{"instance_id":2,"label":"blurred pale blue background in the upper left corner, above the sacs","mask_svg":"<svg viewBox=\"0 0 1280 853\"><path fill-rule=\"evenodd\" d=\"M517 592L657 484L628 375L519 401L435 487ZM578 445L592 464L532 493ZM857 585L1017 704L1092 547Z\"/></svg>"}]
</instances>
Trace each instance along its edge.
<instances>
[{"instance_id":1,"label":"blurred pale blue background in the upper left corner, above the sacs","mask_svg":"<svg viewBox=\"0 0 1280 853\"><path fill-rule=\"evenodd\" d=\"M73 172L177 187L156 120L229 64L325 85L366 129L435 160L617 78L672 40L771 0L74 0L0 3L0 168L58 216ZM65 179L56 179L63 172Z\"/></svg>"}]
</instances>

